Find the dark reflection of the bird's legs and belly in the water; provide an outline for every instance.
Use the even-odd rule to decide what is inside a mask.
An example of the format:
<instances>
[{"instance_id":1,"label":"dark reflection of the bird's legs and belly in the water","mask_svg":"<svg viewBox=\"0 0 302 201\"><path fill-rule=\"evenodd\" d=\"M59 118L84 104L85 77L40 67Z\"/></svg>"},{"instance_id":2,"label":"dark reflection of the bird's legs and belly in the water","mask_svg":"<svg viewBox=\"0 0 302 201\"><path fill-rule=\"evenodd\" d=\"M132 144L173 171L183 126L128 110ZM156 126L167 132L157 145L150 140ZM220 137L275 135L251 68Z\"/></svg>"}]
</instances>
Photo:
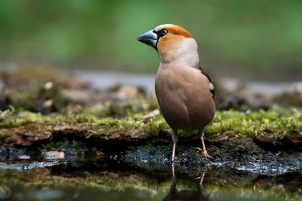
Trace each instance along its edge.
<instances>
[{"instance_id":1,"label":"dark reflection of the bird's legs and belly in the water","mask_svg":"<svg viewBox=\"0 0 302 201\"><path fill-rule=\"evenodd\" d=\"M163 201L207 201L209 200L207 197L205 197L202 194L202 181L203 177L205 175L205 171L203 172L199 183L197 184L197 191L195 190L182 190L177 191L176 189L176 176L175 176L175 170L174 165L172 164L172 178L170 183L170 192L166 195L166 197L163 199Z\"/></svg>"}]
</instances>

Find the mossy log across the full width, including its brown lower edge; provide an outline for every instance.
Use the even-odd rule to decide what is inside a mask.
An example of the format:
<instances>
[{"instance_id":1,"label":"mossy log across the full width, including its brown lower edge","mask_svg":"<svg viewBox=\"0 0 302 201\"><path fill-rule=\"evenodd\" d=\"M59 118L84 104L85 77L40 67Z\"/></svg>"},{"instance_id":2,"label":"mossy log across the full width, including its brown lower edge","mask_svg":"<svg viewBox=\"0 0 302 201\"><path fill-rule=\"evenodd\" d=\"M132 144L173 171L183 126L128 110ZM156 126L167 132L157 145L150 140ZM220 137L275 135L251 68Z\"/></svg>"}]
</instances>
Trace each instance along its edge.
<instances>
[{"instance_id":1,"label":"mossy log across the full width, including its brown lower edge","mask_svg":"<svg viewBox=\"0 0 302 201\"><path fill-rule=\"evenodd\" d=\"M129 114L126 118L97 118L88 113L43 116L39 113L13 114L2 112L0 136L6 144L30 146L53 137L75 136L90 141L171 141L171 131L164 118L148 121L145 113ZM269 111L217 111L205 128L206 139L223 143L232 138L251 138L256 144L271 144L277 149L300 148L302 145L302 113L271 108ZM180 131L181 141L196 142L197 131ZM132 144L133 145L133 144Z\"/></svg>"}]
</instances>

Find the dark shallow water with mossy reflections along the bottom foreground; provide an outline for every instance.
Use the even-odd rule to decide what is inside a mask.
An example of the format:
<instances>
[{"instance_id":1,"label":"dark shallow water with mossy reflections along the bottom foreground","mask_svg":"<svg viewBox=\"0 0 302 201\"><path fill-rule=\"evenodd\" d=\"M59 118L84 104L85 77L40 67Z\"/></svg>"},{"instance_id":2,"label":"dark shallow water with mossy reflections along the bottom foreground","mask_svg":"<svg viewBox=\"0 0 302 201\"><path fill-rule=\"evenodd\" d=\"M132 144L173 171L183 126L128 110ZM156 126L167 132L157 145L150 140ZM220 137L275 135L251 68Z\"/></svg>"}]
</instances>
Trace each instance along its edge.
<instances>
[{"instance_id":1,"label":"dark shallow water with mossy reflections along the bottom foreground","mask_svg":"<svg viewBox=\"0 0 302 201\"><path fill-rule=\"evenodd\" d=\"M0 170L0 200L302 200L299 171L273 177L213 165L190 176L169 163L152 170L117 160L11 163L20 168Z\"/></svg>"}]
</instances>

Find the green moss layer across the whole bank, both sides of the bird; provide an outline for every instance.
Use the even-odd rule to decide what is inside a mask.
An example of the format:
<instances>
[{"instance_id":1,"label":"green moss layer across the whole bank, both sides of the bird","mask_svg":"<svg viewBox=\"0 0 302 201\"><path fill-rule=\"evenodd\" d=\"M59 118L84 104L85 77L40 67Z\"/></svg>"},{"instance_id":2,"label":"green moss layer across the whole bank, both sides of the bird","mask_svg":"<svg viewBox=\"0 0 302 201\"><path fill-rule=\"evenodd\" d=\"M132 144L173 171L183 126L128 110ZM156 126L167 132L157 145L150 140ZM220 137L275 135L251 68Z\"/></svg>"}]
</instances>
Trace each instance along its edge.
<instances>
[{"instance_id":1,"label":"green moss layer across the whole bank, both sides of the bird","mask_svg":"<svg viewBox=\"0 0 302 201\"><path fill-rule=\"evenodd\" d=\"M32 131L33 135L44 132L64 131L71 129L73 133L87 130L91 135L108 137L122 134L131 138L160 137L170 138L171 131L160 115L145 122L140 120L145 113L129 114L122 119L97 118L89 113L77 115L43 116L37 113L24 112L22 117L9 116L0 122L0 129L11 128L1 132L3 137L14 133L24 134ZM255 138L265 136L282 139L285 136L301 136L302 113L300 111L284 111L272 108L269 111L238 112L217 111L213 123L205 128L207 139L215 140L225 135L229 137ZM189 138L197 131L180 131L180 138ZM214 134L214 135L213 135Z\"/></svg>"}]
</instances>

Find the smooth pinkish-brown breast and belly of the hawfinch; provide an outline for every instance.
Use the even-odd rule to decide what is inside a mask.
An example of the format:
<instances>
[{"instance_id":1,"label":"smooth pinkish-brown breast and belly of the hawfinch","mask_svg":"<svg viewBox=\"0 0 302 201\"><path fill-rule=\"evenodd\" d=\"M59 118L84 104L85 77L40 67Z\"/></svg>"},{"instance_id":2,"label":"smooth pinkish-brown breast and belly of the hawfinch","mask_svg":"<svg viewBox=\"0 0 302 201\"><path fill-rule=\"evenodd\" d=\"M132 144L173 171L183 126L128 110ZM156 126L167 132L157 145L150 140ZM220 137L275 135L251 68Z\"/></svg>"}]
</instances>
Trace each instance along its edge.
<instances>
[{"instance_id":1,"label":"smooth pinkish-brown breast and belly of the hawfinch","mask_svg":"<svg viewBox=\"0 0 302 201\"><path fill-rule=\"evenodd\" d=\"M199 129L214 117L215 103L209 80L198 69L161 64L155 90L162 114L171 128Z\"/></svg>"}]
</instances>

